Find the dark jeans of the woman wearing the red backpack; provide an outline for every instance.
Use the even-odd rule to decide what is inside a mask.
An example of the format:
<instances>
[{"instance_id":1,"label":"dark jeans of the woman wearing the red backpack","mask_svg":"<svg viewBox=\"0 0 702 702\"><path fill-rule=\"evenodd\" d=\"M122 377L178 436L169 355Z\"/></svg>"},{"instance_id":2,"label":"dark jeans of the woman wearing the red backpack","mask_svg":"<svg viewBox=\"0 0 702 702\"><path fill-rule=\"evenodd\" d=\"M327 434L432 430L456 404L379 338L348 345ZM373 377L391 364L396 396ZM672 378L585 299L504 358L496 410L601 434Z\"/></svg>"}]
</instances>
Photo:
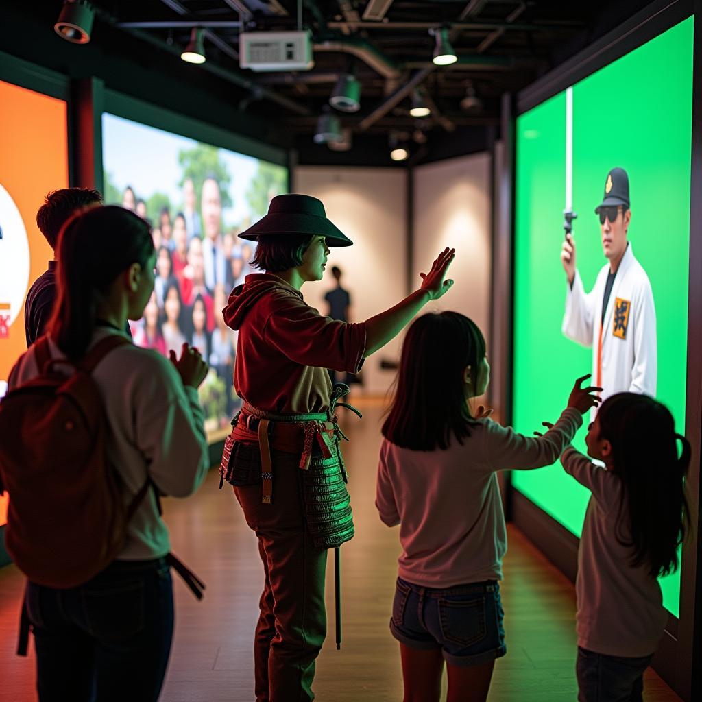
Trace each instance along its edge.
<instances>
[{"instance_id":1,"label":"dark jeans of the woman wearing the red backpack","mask_svg":"<svg viewBox=\"0 0 702 702\"><path fill-rule=\"evenodd\" d=\"M155 702L173 639L164 559L114 561L77 588L27 583L40 702Z\"/></svg>"}]
</instances>

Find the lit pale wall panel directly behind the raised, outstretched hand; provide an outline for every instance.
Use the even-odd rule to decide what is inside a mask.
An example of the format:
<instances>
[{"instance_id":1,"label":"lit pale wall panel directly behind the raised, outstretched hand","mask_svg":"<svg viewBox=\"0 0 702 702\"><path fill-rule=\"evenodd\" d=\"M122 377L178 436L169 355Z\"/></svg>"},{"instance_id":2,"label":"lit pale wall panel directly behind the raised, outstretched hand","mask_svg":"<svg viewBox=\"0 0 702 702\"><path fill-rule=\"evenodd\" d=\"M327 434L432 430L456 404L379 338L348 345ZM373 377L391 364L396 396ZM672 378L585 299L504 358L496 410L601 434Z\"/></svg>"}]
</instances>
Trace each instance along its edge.
<instances>
[{"instance_id":1,"label":"lit pale wall panel directly behind the raised, outstretched hand","mask_svg":"<svg viewBox=\"0 0 702 702\"><path fill-rule=\"evenodd\" d=\"M438 161L414 169L413 268L425 270L444 246L456 249L446 296L433 310L470 317L489 344L491 228L490 154Z\"/></svg>"}]
</instances>

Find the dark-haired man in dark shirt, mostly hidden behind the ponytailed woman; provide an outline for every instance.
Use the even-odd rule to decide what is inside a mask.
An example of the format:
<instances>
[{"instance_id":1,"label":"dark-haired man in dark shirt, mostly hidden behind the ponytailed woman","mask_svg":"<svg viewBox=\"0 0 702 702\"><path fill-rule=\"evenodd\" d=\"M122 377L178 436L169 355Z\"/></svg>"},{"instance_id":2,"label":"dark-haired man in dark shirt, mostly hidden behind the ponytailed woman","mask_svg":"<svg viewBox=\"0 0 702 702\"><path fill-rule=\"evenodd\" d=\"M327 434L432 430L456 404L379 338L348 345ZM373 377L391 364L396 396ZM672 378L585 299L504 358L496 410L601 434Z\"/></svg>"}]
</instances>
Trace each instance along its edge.
<instances>
[{"instance_id":1,"label":"dark-haired man in dark shirt, mostly hidden behind the ponytailed woman","mask_svg":"<svg viewBox=\"0 0 702 702\"><path fill-rule=\"evenodd\" d=\"M80 209L102 204L102 195L97 190L87 187L67 187L50 192L44 204L37 212L37 226L49 246L56 249L56 241L61 227ZM58 261L48 262L48 270L32 283L25 300L25 334L27 348L43 333L51 317L53 302L56 298L56 265Z\"/></svg>"}]
</instances>

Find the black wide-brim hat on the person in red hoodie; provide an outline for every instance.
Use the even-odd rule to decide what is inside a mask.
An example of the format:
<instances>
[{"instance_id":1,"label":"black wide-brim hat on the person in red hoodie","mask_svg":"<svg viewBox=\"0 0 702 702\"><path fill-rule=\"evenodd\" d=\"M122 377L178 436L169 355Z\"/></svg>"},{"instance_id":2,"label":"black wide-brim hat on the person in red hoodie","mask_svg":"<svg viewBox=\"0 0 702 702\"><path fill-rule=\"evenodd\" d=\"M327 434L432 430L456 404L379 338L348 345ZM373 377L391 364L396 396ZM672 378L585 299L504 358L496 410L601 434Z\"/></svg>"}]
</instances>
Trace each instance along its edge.
<instances>
[{"instance_id":1,"label":"black wide-brim hat on the person in red hoodie","mask_svg":"<svg viewBox=\"0 0 702 702\"><path fill-rule=\"evenodd\" d=\"M277 195L270 201L268 214L239 234L240 239L258 241L258 237L307 234L326 237L327 246L351 246L353 241L327 218L322 200L311 195Z\"/></svg>"}]
</instances>

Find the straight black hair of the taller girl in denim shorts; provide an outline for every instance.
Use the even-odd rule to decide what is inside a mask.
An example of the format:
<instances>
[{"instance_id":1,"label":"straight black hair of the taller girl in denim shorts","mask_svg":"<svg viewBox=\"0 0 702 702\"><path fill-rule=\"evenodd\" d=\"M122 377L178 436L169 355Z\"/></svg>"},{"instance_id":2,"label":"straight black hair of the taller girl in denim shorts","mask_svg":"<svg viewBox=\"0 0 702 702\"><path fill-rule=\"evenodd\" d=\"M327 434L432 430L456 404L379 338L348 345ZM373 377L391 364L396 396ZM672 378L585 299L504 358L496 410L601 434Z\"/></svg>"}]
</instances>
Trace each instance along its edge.
<instances>
[{"instance_id":1,"label":"straight black hair of the taller girl in denim shorts","mask_svg":"<svg viewBox=\"0 0 702 702\"><path fill-rule=\"evenodd\" d=\"M414 451L447 449L451 435L463 444L470 436L463 372L471 368L477 388L485 339L475 322L458 312L423 314L407 330L397 372L397 388L383 436Z\"/></svg>"}]
</instances>

